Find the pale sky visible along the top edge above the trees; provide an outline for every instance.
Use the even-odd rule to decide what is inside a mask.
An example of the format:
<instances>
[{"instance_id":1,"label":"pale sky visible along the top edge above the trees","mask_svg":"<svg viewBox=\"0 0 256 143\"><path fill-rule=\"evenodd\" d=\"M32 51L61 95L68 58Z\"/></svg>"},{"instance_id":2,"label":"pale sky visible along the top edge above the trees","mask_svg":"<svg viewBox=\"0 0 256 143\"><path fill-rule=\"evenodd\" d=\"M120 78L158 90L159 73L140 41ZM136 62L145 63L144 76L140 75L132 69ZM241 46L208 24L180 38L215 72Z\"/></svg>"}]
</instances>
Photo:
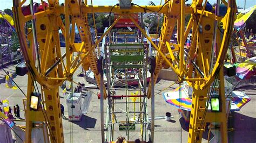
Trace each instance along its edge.
<instances>
[{"instance_id":1,"label":"pale sky visible along the top edge above the trees","mask_svg":"<svg viewBox=\"0 0 256 143\"><path fill-rule=\"evenodd\" d=\"M21 1L21 0L16 0L16 1ZM47 1L47 0L44 0ZM160 4L160 1L163 1L162 4L164 3L164 0L133 0L132 3L136 3L138 5L148 5L148 3L152 1L156 5ZM192 0L188 0L186 3L191 3ZM215 3L216 0L208 0L211 4ZM246 9L250 8L253 5L256 5L256 0L236 0L237 5L240 6L241 8L244 8L244 2L246 1ZM33 2L41 3L41 0L33 0ZM88 4L91 3L91 1ZM118 0L93 0L93 5L115 5L118 2ZM12 0L0 0L0 10L4 9L11 9L12 7ZM26 3L29 3L29 0L27 0ZM64 3L64 0L59 0L59 3Z\"/></svg>"}]
</instances>

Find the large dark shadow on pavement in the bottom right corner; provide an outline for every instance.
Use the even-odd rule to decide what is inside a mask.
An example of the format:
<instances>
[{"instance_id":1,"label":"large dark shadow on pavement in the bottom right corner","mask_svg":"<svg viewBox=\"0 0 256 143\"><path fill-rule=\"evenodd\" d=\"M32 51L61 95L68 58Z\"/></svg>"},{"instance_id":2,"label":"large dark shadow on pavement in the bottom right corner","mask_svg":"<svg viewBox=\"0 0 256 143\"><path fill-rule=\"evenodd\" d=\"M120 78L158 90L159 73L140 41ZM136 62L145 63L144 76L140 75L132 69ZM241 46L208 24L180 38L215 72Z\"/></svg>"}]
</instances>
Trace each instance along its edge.
<instances>
[{"instance_id":1,"label":"large dark shadow on pavement in the bottom right corner","mask_svg":"<svg viewBox=\"0 0 256 143\"><path fill-rule=\"evenodd\" d=\"M254 109L255 110L255 109ZM255 142L256 141L256 118L231 112L229 127L234 131L228 133L228 142Z\"/></svg>"}]
</instances>

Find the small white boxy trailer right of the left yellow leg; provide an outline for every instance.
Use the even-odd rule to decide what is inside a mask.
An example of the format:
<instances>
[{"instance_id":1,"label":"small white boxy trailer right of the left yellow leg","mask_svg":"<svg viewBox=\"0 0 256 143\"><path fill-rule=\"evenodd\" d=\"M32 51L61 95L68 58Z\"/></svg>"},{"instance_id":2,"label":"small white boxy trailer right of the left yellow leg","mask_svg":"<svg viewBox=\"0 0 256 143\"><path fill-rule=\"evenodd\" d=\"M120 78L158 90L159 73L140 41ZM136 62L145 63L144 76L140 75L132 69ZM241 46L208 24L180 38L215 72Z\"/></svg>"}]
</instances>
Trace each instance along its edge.
<instances>
[{"instance_id":1,"label":"small white boxy trailer right of the left yellow leg","mask_svg":"<svg viewBox=\"0 0 256 143\"><path fill-rule=\"evenodd\" d=\"M80 121L82 112L82 94L80 92L70 93L66 97L66 104L68 105L69 121Z\"/></svg>"}]
</instances>

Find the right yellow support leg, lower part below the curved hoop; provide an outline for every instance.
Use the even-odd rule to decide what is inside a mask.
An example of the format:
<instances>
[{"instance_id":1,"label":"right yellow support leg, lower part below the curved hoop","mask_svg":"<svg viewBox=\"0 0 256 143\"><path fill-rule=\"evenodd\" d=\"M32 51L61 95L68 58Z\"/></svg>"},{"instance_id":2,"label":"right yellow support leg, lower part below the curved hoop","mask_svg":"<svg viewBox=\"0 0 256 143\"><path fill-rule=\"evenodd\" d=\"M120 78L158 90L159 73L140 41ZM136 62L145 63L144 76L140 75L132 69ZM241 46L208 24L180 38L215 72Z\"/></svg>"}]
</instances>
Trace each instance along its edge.
<instances>
[{"instance_id":1,"label":"right yellow support leg, lower part below the curved hoop","mask_svg":"<svg viewBox=\"0 0 256 143\"><path fill-rule=\"evenodd\" d=\"M214 125L214 130L220 132L216 140L227 142L227 115L225 100L225 85L223 67L219 71L219 111L213 112L206 109L208 88L204 90L193 89L192 109L190 115L190 125L188 132L188 142L201 142L206 123ZM209 105L210 106L210 105ZM204 113L206 115L204 117Z\"/></svg>"}]
</instances>

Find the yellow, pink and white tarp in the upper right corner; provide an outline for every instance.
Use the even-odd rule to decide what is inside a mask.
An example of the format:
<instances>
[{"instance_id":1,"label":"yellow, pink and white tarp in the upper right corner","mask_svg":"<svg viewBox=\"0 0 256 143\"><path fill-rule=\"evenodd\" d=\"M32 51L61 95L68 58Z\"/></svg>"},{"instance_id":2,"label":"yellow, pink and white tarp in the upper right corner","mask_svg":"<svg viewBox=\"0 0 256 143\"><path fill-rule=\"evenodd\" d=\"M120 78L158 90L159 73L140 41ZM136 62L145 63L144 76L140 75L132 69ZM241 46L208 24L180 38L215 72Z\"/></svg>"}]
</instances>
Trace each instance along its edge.
<instances>
[{"instance_id":1,"label":"yellow, pink and white tarp in the upper right corner","mask_svg":"<svg viewBox=\"0 0 256 143\"><path fill-rule=\"evenodd\" d=\"M250 8L245 9L244 11L239 13L237 15L237 19L234 22L234 27L242 28L243 26L245 26L246 21L250 18L254 10L256 10L256 5L251 6Z\"/></svg>"}]
</instances>

